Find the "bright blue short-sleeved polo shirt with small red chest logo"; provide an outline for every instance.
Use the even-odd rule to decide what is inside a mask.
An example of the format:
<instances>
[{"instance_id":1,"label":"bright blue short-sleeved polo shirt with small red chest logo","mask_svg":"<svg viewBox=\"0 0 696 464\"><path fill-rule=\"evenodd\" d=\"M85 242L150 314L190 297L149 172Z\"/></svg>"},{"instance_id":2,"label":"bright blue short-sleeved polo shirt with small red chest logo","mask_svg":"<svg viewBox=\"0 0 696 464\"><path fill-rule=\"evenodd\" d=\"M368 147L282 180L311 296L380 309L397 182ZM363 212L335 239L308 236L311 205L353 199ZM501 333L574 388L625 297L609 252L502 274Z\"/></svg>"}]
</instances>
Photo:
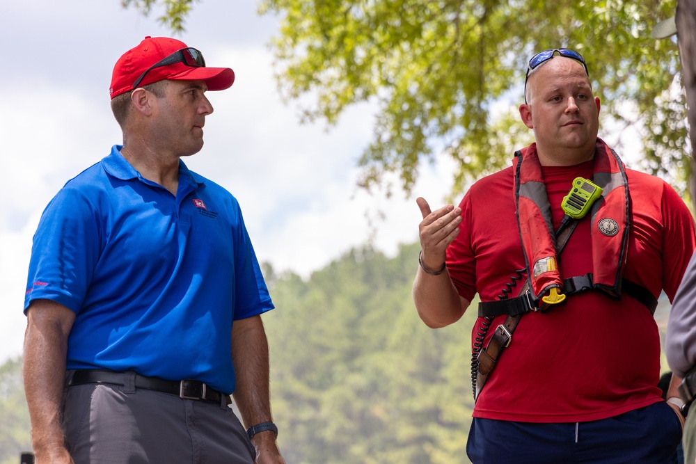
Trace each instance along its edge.
<instances>
[{"instance_id":1,"label":"bright blue short-sleeved polo shirt with small red chest logo","mask_svg":"<svg viewBox=\"0 0 696 464\"><path fill-rule=\"evenodd\" d=\"M180 161L176 196L111 154L71 179L33 239L24 310L76 314L68 369L235 389L232 321L273 309L237 200Z\"/></svg>"}]
</instances>

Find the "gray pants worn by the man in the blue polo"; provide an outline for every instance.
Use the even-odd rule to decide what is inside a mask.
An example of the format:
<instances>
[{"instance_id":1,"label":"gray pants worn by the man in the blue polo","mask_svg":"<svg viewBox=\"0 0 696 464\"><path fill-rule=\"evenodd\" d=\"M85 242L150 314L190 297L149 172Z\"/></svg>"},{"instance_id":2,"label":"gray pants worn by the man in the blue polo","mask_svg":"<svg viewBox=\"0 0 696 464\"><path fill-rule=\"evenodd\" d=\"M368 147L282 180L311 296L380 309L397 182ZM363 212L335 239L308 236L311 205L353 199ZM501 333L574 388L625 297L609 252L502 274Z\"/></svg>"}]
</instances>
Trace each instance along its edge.
<instances>
[{"instance_id":1,"label":"gray pants worn by the man in the blue polo","mask_svg":"<svg viewBox=\"0 0 696 464\"><path fill-rule=\"evenodd\" d=\"M67 387L63 427L76 464L253 464L255 458L244 426L224 403L132 385Z\"/></svg>"}]
</instances>

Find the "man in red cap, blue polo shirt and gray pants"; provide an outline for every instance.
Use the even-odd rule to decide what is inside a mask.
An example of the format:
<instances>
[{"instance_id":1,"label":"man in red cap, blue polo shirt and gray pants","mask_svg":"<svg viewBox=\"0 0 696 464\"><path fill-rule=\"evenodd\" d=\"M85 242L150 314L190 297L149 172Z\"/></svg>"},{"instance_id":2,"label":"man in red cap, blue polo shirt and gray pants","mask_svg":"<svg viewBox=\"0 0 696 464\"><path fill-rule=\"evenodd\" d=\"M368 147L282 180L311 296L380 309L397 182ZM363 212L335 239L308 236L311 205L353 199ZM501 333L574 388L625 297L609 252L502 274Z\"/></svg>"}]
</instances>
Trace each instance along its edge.
<instances>
[{"instance_id":1,"label":"man in red cap, blue polo shirt and gray pants","mask_svg":"<svg viewBox=\"0 0 696 464\"><path fill-rule=\"evenodd\" d=\"M205 91L234 79L170 38L117 61L123 145L65 184L33 241L24 385L37 463L283 463L260 319L274 306L242 211L180 160L203 147Z\"/></svg>"}]
</instances>

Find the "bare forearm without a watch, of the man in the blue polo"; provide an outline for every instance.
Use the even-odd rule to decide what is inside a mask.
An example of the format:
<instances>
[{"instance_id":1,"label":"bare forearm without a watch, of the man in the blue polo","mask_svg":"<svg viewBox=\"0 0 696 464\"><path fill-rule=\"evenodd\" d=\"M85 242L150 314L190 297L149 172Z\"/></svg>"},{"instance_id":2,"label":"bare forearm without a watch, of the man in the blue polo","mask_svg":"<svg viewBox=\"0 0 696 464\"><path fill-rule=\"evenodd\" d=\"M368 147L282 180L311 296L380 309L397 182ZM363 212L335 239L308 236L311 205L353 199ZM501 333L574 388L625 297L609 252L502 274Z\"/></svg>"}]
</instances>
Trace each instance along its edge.
<instances>
[{"instance_id":1,"label":"bare forearm without a watch, of the man in the blue polo","mask_svg":"<svg viewBox=\"0 0 696 464\"><path fill-rule=\"evenodd\" d=\"M47 307L32 307L28 314L22 376L37 462L58 462L61 457L70 462L62 426L70 315L53 317L54 313Z\"/></svg>"}]
</instances>

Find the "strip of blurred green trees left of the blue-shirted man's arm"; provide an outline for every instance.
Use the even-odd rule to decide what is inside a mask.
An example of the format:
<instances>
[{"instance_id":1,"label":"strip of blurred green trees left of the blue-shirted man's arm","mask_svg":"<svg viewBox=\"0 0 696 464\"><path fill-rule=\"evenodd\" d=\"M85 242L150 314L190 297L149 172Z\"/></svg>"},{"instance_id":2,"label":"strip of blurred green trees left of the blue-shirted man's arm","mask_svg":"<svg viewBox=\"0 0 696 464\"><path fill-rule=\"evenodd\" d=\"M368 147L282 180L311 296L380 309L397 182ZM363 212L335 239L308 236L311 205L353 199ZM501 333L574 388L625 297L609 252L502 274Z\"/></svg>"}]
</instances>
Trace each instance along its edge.
<instances>
[{"instance_id":1,"label":"strip of blurred green trees left of the blue-shirted man's arm","mask_svg":"<svg viewBox=\"0 0 696 464\"><path fill-rule=\"evenodd\" d=\"M31 436L22 360L16 359L0 365L0 464L19 463L22 451L31 451Z\"/></svg>"}]
</instances>

